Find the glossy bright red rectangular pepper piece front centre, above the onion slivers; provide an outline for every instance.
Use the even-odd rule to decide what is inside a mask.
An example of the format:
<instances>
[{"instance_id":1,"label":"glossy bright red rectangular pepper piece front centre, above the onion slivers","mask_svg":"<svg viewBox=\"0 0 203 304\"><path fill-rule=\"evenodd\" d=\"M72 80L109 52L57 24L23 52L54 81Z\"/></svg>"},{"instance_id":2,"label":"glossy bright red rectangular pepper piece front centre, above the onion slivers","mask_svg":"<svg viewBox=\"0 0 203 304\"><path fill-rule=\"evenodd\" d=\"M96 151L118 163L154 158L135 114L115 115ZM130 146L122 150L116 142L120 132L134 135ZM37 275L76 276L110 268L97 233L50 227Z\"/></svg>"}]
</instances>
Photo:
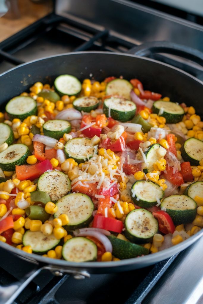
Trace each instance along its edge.
<instances>
[{"instance_id":1,"label":"glossy bright red rectangular pepper piece front centre, above the onion slivers","mask_svg":"<svg viewBox=\"0 0 203 304\"><path fill-rule=\"evenodd\" d=\"M92 227L121 233L123 229L123 222L119 221L118 219L112 219L102 215L95 215Z\"/></svg>"}]
</instances>

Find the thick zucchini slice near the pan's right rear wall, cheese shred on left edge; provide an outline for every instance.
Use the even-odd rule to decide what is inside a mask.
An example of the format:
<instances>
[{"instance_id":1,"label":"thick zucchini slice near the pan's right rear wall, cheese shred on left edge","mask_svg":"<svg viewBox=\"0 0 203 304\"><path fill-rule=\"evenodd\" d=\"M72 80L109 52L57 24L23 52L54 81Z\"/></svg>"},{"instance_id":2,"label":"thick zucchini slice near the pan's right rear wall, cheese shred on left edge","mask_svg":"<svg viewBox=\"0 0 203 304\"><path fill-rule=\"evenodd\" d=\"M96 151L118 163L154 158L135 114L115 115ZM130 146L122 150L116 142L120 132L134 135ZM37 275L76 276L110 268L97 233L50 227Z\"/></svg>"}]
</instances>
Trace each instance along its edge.
<instances>
[{"instance_id":1,"label":"thick zucchini slice near the pan's right rear wall, cheese shred on left edge","mask_svg":"<svg viewBox=\"0 0 203 304\"><path fill-rule=\"evenodd\" d=\"M175 102L158 100L153 103L152 112L166 118L166 123L179 123L183 119L184 109Z\"/></svg>"}]
</instances>

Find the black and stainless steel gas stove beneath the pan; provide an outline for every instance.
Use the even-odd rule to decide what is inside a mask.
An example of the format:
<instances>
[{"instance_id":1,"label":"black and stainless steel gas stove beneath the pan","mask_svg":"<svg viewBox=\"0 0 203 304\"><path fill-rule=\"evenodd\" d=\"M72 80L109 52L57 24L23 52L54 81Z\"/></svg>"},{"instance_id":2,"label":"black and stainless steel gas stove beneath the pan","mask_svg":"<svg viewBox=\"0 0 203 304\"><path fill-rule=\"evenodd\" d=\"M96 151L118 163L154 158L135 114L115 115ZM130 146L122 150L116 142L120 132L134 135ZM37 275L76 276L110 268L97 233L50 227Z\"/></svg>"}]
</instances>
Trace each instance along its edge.
<instances>
[{"instance_id":1,"label":"black and stainless steel gas stove beneath the pan","mask_svg":"<svg viewBox=\"0 0 203 304\"><path fill-rule=\"evenodd\" d=\"M0 73L40 57L103 50L141 54L203 79L203 67L198 60L191 61L190 54L191 47L195 52L203 51L202 18L177 9L173 14L170 7L160 5L159 10L157 4L152 7L151 1L143 2L146 5L125 0L55 1L53 13L0 43ZM165 52L160 51L160 41L168 42L164 44ZM181 52L185 58L180 57L176 43L185 46L186 52ZM76 280L70 275L57 277L44 271L33 279L15 303L201 304L202 246L203 239L156 265L116 274L91 275L85 280ZM0 256L0 285L19 280L34 267L3 249L0 249Z\"/></svg>"}]
</instances>

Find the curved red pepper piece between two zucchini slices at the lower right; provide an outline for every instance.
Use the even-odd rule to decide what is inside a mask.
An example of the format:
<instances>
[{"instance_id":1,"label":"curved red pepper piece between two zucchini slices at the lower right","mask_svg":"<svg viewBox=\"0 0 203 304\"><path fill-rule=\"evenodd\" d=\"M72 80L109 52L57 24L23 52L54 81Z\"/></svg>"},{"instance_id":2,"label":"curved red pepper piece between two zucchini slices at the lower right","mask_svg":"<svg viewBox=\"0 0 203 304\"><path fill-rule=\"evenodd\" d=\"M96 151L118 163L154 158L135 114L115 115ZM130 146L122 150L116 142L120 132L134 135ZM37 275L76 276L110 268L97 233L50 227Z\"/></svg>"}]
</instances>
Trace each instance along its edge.
<instances>
[{"instance_id":1,"label":"curved red pepper piece between two zucchini slices at the lower right","mask_svg":"<svg viewBox=\"0 0 203 304\"><path fill-rule=\"evenodd\" d=\"M167 234L175 231L175 225L167 212L158 210L156 212L152 212L152 214L158 220L160 232Z\"/></svg>"}]
</instances>

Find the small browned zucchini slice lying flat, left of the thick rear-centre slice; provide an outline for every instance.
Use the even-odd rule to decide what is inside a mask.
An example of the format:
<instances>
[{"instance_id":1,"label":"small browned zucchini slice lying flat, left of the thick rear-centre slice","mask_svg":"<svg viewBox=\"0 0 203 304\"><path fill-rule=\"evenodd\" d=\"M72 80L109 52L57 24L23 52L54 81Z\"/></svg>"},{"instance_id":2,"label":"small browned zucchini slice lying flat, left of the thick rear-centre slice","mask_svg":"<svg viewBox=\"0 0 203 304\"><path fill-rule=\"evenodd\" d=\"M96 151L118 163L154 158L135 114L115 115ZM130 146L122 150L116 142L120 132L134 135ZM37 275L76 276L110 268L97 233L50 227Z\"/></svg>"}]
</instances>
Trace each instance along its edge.
<instances>
[{"instance_id":1,"label":"small browned zucchini slice lying flat, left of the thick rear-centre slice","mask_svg":"<svg viewBox=\"0 0 203 304\"><path fill-rule=\"evenodd\" d=\"M98 108L99 100L94 96L83 96L76 98L73 106L78 111L90 112Z\"/></svg>"}]
</instances>

